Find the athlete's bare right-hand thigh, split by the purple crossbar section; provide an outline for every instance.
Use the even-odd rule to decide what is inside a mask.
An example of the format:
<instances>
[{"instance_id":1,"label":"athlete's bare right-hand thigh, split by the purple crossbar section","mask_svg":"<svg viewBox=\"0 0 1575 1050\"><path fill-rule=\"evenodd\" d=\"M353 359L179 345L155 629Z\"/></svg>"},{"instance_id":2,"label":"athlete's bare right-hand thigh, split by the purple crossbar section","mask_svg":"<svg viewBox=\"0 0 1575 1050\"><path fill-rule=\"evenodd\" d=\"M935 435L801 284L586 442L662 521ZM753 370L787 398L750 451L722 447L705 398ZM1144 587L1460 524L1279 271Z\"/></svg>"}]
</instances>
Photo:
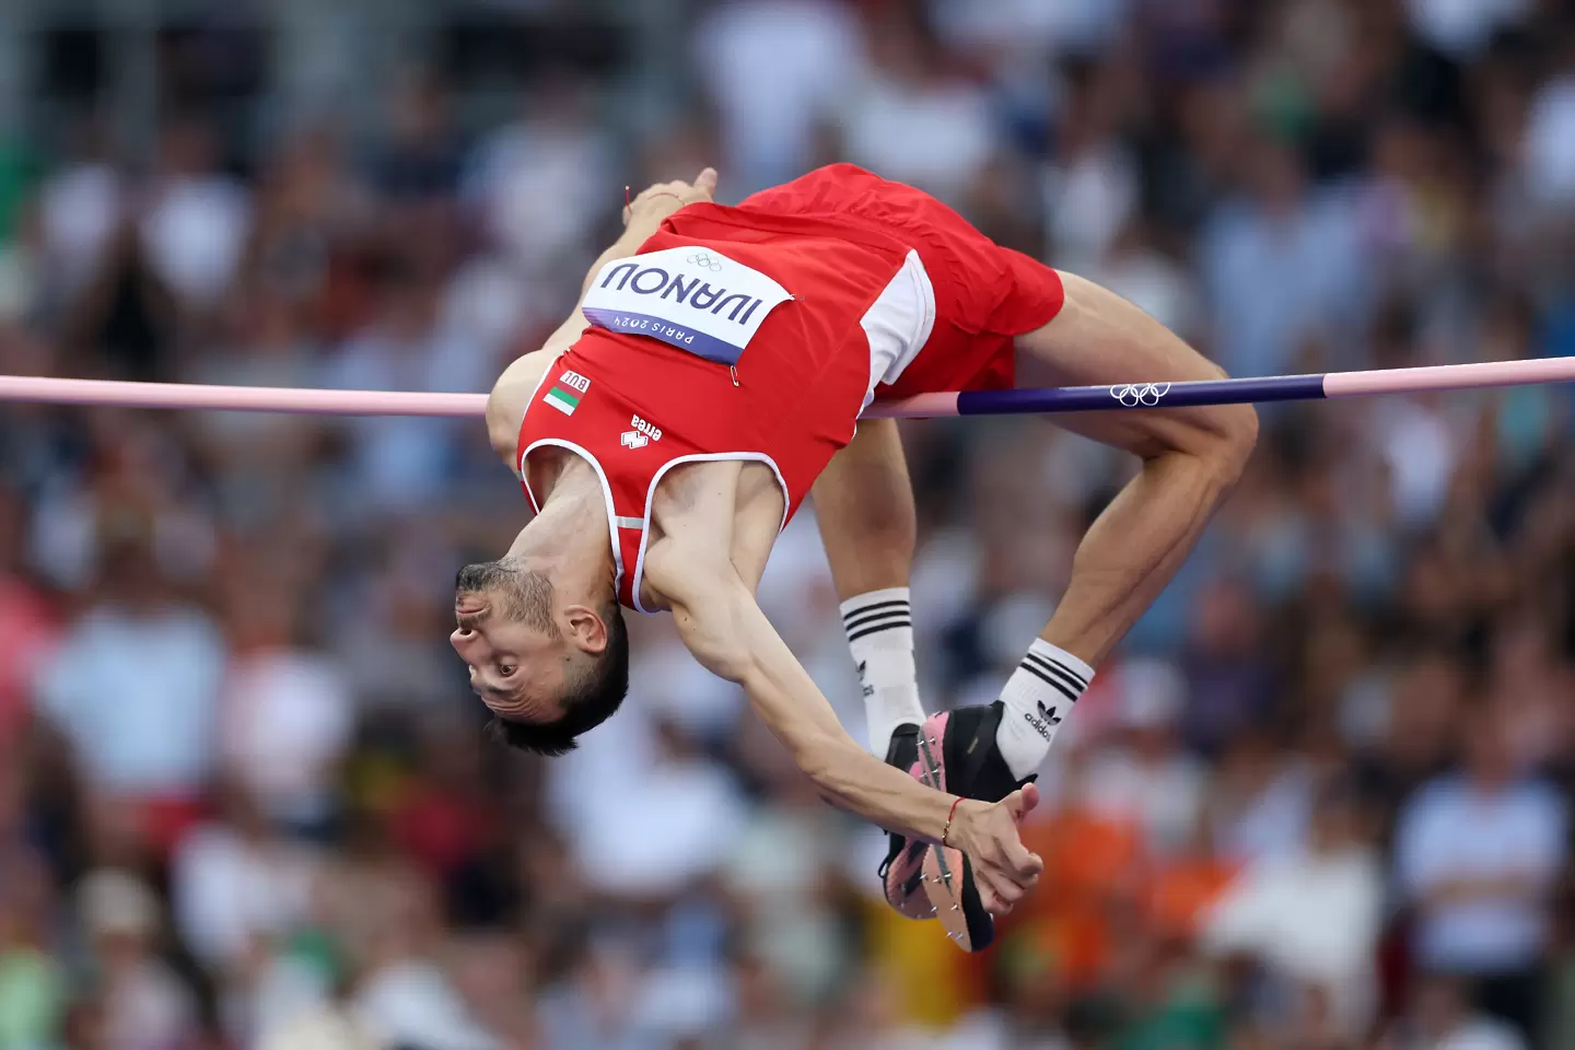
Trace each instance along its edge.
<instances>
[{"instance_id":1,"label":"athlete's bare right-hand thigh, split by the purple crossbar section","mask_svg":"<svg viewBox=\"0 0 1575 1050\"><path fill-rule=\"evenodd\" d=\"M1170 329L1107 288L1058 271L1066 301L1052 321L1017 337L1019 384L1121 386L1219 379L1225 373ZM1115 408L1055 416L1055 423L1137 455L1202 450L1221 441L1251 447L1257 420L1246 405Z\"/></svg>"}]
</instances>

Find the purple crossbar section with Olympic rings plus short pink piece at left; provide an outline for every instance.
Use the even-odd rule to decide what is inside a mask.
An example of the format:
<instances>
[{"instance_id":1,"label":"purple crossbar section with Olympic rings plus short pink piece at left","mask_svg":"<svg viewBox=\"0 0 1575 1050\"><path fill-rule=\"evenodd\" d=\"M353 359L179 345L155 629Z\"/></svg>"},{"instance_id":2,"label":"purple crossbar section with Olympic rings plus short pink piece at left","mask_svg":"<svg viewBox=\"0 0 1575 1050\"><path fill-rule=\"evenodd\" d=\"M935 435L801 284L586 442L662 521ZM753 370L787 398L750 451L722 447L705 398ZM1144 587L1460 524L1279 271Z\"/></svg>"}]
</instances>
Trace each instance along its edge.
<instances>
[{"instance_id":1,"label":"purple crossbar section with Olympic rings plus short pink piece at left","mask_svg":"<svg viewBox=\"0 0 1575 1050\"><path fill-rule=\"evenodd\" d=\"M1118 408L1186 408L1189 405L1303 401L1321 397L1323 376L1269 376L1265 379L1126 383L1120 386L1077 386L1047 390L929 394L906 401L871 405L865 416L932 419L937 416L1096 412Z\"/></svg>"}]
</instances>

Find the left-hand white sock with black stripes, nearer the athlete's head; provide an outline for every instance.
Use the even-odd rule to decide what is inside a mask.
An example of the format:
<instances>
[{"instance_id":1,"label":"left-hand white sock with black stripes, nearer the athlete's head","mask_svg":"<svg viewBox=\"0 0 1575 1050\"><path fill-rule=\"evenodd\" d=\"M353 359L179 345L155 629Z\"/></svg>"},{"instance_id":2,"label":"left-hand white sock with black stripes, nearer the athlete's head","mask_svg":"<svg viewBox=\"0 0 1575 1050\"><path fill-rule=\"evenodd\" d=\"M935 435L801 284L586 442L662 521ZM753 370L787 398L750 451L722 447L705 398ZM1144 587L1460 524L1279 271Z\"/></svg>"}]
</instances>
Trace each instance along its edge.
<instances>
[{"instance_id":1,"label":"left-hand white sock with black stripes, nearer the athlete's head","mask_svg":"<svg viewBox=\"0 0 1575 1050\"><path fill-rule=\"evenodd\" d=\"M865 686L869 749L885 759L891 732L902 724L921 726L918 672L914 669L914 608L907 587L887 587L843 603L847 649Z\"/></svg>"}]
</instances>

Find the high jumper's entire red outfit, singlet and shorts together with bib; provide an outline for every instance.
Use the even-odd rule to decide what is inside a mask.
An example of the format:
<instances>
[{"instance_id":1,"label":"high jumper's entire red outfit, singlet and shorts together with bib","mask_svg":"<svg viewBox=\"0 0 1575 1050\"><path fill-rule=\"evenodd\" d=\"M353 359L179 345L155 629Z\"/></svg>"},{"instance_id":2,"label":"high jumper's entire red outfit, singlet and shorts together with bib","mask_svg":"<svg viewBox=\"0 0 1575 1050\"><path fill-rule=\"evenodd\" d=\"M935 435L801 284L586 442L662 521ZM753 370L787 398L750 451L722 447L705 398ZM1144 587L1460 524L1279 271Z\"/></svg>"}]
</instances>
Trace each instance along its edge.
<instances>
[{"instance_id":1,"label":"high jumper's entire red outfit, singlet and shorts together with bib","mask_svg":"<svg viewBox=\"0 0 1575 1050\"><path fill-rule=\"evenodd\" d=\"M999 389L1011 337L1055 316L1055 271L912 187L839 164L748 198L690 205L595 275L592 327L520 428L602 479L619 600L639 609L650 497L696 460L765 463L783 524L877 394ZM526 494L539 505L526 482Z\"/></svg>"}]
</instances>

